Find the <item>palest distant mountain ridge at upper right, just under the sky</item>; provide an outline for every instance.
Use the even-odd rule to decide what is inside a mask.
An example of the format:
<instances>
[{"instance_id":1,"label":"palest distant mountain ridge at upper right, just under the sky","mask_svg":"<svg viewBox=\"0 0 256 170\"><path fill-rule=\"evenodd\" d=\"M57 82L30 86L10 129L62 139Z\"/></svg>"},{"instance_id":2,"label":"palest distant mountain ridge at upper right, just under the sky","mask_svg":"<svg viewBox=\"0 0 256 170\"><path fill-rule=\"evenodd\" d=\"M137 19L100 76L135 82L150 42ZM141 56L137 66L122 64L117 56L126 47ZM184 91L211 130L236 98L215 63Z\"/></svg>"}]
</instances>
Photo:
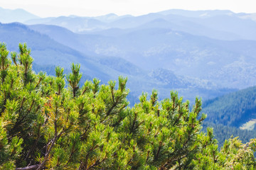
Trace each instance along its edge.
<instances>
[{"instance_id":1,"label":"palest distant mountain ridge at upper right, just under the sky","mask_svg":"<svg viewBox=\"0 0 256 170\"><path fill-rule=\"evenodd\" d=\"M166 16L166 18L171 16L171 21L174 20L174 15L183 16L180 21L193 24L198 23L210 30L220 31L223 35L225 35L225 33L231 33L239 36L240 39L256 40L256 34L255 31L253 31L256 28L255 13L233 13L228 10L186 11L171 9L161 11L159 14ZM193 26L191 26L191 28L193 28ZM207 31L207 29L204 30Z\"/></svg>"}]
</instances>

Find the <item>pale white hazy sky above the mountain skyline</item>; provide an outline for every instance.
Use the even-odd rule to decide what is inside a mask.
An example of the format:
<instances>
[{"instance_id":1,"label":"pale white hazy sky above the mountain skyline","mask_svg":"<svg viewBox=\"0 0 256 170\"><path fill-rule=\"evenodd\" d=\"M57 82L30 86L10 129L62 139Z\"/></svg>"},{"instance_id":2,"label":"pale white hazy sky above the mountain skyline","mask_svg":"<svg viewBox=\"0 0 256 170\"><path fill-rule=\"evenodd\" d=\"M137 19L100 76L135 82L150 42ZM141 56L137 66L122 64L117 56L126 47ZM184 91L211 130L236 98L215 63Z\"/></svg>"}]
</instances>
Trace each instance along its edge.
<instances>
[{"instance_id":1,"label":"pale white hazy sky above the mountain skyline","mask_svg":"<svg viewBox=\"0 0 256 170\"><path fill-rule=\"evenodd\" d=\"M41 17L100 16L107 13L138 16L171 8L256 13L256 0L0 0L0 6L23 8Z\"/></svg>"}]
</instances>

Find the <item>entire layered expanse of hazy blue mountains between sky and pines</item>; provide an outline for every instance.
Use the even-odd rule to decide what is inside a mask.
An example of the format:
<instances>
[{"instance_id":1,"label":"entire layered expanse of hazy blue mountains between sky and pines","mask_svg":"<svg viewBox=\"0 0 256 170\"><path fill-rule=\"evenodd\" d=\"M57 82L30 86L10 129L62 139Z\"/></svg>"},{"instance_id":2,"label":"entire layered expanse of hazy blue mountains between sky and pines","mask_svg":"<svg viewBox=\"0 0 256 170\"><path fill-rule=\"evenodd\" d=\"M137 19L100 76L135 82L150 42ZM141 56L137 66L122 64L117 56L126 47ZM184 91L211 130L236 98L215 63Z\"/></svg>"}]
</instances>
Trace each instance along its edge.
<instances>
[{"instance_id":1,"label":"entire layered expanse of hazy blue mountains between sky and pines","mask_svg":"<svg viewBox=\"0 0 256 170\"><path fill-rule=\"evenodd\" d=\"M135 98L152 89L164 98L175 89L187 99L206 100L256 82L255 13L169 10L16 20L25 25L11 23L15 15L0 18L1 41L9 50L27 42L36 66L48 72L76 62L85 79L127 76Z\"/></svg>"}]
</instances>

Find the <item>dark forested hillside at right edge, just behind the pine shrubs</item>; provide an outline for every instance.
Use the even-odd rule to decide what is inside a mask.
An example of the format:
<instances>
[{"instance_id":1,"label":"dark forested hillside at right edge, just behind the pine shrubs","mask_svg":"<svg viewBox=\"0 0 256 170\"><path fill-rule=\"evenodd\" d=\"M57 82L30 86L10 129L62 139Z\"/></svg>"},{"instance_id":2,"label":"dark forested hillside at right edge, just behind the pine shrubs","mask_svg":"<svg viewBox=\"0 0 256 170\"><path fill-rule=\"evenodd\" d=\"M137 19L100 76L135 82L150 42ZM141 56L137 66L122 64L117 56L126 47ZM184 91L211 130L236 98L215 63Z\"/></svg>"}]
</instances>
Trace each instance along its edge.
<instances>
[{"instance_id":1,"label":"dark forested hillside at right edge, just behind the pine shrubs","mask_svg":"<svg viewBox=\"0 0 256 170\"><path fill-rule=\"evenodd\" d=\"M255 118L256 86L214 98L203 103L206 121L239 128Z\"/></svg>"}]
</instances>

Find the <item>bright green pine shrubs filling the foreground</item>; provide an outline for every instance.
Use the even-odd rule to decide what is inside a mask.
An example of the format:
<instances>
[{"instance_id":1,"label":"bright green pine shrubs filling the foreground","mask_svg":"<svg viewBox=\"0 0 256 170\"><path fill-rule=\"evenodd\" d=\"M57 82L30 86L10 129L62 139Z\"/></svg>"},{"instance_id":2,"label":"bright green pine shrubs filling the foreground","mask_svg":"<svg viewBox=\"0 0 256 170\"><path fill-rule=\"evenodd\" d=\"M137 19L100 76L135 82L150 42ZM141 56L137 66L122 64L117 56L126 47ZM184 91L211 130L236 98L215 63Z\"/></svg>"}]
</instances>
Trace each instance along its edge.
<instances>
[{"instance_id":1,"label":"bright green pine shrubs filling the foreground","mask_svg":"<svg viewBox=\"0 0 256 170\"><path fill-rule=\"evenodd\" d=\"M0 169L255 169L256 140L218 151L196 98L142 94L128 106L127 78L80 86L80 65L55 77L32 72L31 50L0 44ZM67 87L68 86L68 87ZM201 116L200 116L201 115Z\"/></svg>"}]
</instances>

